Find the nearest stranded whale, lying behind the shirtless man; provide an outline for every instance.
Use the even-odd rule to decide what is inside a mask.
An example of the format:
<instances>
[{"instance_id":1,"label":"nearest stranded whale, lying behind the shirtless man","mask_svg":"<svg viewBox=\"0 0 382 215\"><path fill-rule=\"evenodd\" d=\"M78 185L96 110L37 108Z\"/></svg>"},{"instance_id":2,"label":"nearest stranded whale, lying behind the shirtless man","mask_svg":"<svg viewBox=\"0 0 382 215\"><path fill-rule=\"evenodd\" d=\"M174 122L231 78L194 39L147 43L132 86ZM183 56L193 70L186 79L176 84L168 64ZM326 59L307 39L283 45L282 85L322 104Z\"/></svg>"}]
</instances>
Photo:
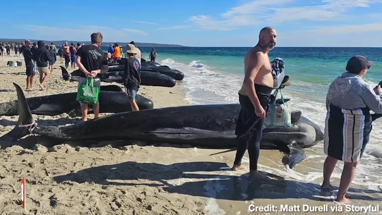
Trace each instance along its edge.
<instances>
[{"instance_id":1,"label":"nearest stranded whale, lying behind the shirtless man","mask_svg":"<svg viewBox=\"0 0 382 215\"><path fill-rule=\"evenodd\" d=\"M236 119L240 104L211 104L147 109L102 116L65 127L39 126L32 117L23 90L16 84L20 125L0 137L16 141L28 134L62 140L142 140L186 144L202 148L236 148ZM91 132L89 132L91 131ZM260 148L285 153L283 163L293 168L306 158L303 148L324 138L305 117L290 128L264 129ZM90 143L89 143L90 144Z\"/></svg>"}]
</instances>

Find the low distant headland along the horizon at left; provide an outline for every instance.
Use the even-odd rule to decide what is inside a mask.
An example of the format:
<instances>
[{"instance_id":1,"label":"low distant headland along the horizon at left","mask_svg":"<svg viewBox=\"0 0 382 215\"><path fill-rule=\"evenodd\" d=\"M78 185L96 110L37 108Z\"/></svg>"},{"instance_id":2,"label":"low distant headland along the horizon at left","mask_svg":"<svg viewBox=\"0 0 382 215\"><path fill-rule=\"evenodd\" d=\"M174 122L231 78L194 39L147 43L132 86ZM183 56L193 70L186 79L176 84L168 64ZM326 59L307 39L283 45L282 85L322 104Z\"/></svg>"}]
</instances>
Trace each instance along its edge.
<instances>
[{"instance_id":1,"label":"low distant headland along the horizon at left","mask_svg":"<svg viewBox=\"0 0 382 215\"><path fill-rule=\"evenodd\" d=\"M24 42L25 39L0 39L0 42L8 42L8 43L14 43L14 42ZM40 39L30 39L32 42L37 42ZM50 40L43 40L45 43L50 44L53 42L55 45L61 45L65 42L68 42L69 44L73 42L74 44L77 44L78 42L81 44L89 45L91 44L90 41L70 41L70 40L60 40L60 41L50 41ZM102 46L108 46L110 44L114 44L115 42L102 42ZM130 42L117 42L120 46L126 46ZM175 45L175 44L160 44L160 43L147 43L147 42L136 42L137 47L186 47L181 45Z\"/></svg>"}]
</instances>

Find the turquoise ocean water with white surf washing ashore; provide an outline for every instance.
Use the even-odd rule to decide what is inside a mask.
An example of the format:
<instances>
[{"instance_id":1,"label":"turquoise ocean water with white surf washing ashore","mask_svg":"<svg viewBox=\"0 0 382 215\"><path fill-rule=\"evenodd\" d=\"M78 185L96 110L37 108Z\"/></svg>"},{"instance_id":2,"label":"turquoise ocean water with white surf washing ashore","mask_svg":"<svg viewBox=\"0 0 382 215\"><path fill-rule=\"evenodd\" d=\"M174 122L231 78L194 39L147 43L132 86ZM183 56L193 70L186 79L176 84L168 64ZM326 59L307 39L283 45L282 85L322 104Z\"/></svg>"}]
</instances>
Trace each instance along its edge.
<instances>
[{"instance_id":1,"label":"turquoise ocean water with white surf washing ashore","mask_svg":"<svg viewBox=\"0 0 382 215\"><path fill-rule=\"evenodd\" d=\"M182 88L186 99L197 104L238 103L238 90L244 77L244 56L251 47L157 47L156 62L178 69L185 74ZM142 58L148 60L150 47L139 47ZM105 49L107 50L107 49ZM353 55L364 55L375 62L364 80L373 88L382 80L382 48L354 47L275 47L270 51L270 60L280 57L285 62L285 73L290 77L284 96L290 98L293 110L325 126L325 97L330 83L343 72L346 62ZM349 98L351 99L351 98ZM382 120L373 123L370 142L358 165L353 184L359 186L382 186ZM308 159L291 174L281 169L265 170L276 174L298 176L299 180L320 183L325 160L323 142L305 150ZM341 162L339 162L341 163ZM341 164L340 164L341 166ZM339 180L341 169L335 169L333 177ZM338 185L338 184L337 184Z\"/></svg>"}]
</instances>

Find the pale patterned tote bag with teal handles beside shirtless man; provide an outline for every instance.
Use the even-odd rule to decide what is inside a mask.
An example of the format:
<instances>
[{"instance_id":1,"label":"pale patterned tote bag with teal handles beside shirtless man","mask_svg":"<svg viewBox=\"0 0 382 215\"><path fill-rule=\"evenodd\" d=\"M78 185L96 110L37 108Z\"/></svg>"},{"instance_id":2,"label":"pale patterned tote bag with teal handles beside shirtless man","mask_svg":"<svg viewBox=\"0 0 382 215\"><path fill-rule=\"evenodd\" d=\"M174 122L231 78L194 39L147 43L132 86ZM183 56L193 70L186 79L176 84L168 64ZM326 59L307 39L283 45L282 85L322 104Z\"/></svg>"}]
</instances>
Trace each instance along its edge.
<instances>
[{"instance_id":1,"label":"pale patterned tote bag with teal handles beside shirtless man","mask_svg":"<svg viewBox=\"0 0 382 215\"><path fill-rule=\"evenodd\" d=\"M281 99L277 99L278 91L280 91ZM291 127L291 100L284 99L281 89L277 89L274 93L275 101L269 105L267 117L264 119L264 125L267 128L272 127Z\"/></svg>"}]
</instances>

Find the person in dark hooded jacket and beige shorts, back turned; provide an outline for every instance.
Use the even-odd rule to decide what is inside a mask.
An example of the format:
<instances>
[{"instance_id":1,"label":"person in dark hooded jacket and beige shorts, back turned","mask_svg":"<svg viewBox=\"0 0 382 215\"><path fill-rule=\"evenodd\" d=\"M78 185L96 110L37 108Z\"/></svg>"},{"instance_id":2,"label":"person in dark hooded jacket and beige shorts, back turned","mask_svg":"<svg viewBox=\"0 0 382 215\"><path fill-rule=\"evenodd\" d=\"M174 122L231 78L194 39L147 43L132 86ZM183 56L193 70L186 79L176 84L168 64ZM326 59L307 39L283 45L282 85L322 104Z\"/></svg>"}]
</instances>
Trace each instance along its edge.
<instances>
[{"instance_id":1,"label":"person in dark hooded jacket and beige shorts, back turned","mask_svg":"<svg viewBox=\"0 0 382 215\"><path fill-rule=\"evenodd\" d=\"M49 68L48 62L50 61L49 50L45 49L44 41L40 40L37 42L38 48L34 51L32 59L36 60L37 71L40 73L40 88L45 90L45 83L49 78Z\"/></svg>"}]
</instances>

